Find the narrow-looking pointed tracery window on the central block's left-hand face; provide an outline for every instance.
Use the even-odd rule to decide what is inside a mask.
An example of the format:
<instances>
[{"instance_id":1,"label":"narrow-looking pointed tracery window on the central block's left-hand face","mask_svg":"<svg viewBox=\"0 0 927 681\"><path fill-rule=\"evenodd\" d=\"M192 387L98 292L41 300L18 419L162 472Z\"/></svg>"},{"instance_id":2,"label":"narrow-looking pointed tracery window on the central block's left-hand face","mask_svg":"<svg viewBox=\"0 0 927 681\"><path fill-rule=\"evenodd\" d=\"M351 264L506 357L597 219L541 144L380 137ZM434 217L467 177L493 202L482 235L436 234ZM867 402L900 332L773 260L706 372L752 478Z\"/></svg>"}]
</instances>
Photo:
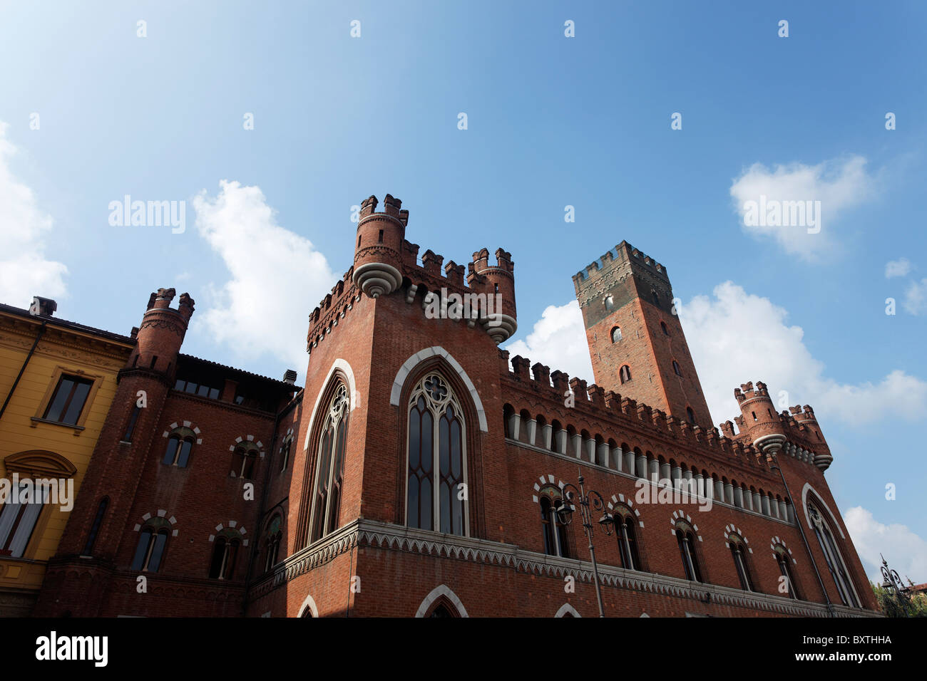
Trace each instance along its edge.
<instances>
[{"instance_id":1,"label":"narrow-looking pointed tracery window on the central block's left-hand face","mask_svg":"<svg viewBox=\"0 0 927 681\"><path fill-rule=\"evenodd\" d=\"M322 425L312 501L311 541L335 532L339 526L349 407L348 388L338 384Z\"/></svg>"}]
</instances>

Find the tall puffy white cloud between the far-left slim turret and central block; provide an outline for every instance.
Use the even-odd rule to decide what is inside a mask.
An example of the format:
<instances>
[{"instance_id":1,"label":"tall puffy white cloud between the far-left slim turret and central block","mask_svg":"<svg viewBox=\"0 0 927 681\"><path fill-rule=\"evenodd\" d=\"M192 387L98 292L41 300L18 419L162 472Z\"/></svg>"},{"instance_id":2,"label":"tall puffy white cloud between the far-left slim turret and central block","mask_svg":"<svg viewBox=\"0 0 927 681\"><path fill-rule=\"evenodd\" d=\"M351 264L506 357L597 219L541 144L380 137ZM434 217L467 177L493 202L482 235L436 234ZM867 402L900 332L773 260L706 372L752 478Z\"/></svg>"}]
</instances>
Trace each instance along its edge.
<instances>
[{"instance_id":1,"label":"tall puffy white cloud between the far-left slim turret and central block","mask_svg":"<svg viewBox=\"0 0 927 681\"><path fill-rule=\"evenodd\" d=\"M307 315L340 276L309 239L277 224L260 187L219 186L193 201L199 233L231 273L203 313L210 334L241 359L269 354L302 375Z\"/></svg>"}]
</instances>

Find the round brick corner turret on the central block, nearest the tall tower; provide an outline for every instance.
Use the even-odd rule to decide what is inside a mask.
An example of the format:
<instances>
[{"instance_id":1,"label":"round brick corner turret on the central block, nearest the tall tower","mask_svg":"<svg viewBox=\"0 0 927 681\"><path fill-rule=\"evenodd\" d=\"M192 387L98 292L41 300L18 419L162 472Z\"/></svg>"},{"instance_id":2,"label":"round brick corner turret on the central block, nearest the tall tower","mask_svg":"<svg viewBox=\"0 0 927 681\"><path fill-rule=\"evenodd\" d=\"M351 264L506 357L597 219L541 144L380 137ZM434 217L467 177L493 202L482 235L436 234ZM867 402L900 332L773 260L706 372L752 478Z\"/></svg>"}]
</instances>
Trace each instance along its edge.
<instances>
[{"instance_id":1,"label":"round brick corner turret on the central block, nearest the tall tower","mask_svg":"<svg viewBox=\"0 0 927 681\"><path fill-rule=\"evenodd\" d=\"M489 336L502 343L512 337L518 328L515 312L515 277L512 254L496 249L496 264L489 264L489 250L483 248L473 254L467 266L467 285L476 294L486 294L487 308L481 322Z\"/></svg>"}]
</instances>

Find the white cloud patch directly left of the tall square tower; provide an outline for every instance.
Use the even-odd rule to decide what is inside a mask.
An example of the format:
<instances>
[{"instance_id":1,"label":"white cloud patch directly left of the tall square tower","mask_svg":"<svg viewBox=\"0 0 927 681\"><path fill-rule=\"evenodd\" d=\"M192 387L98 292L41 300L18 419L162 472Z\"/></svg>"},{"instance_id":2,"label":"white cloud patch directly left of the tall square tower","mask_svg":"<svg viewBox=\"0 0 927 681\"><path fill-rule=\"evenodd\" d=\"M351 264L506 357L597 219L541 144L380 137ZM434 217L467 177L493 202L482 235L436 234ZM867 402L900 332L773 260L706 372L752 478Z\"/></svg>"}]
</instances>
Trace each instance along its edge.
<instances>
[{"instance_id":1,"label":"white cloud patch directly left of the tall square tower","mask_svg":"<svg viewBox=\"0 0 927 681\"><path fill-rule=\"evenodd\" d=\"M530 359L532 364L538 361L546 364L552 372L566 372L571 377L592 381L586 326L576 300L560 307L550 305L545 308L531 333L505 349L511 357L521 355Z\"/></svg>"}]
</instances>

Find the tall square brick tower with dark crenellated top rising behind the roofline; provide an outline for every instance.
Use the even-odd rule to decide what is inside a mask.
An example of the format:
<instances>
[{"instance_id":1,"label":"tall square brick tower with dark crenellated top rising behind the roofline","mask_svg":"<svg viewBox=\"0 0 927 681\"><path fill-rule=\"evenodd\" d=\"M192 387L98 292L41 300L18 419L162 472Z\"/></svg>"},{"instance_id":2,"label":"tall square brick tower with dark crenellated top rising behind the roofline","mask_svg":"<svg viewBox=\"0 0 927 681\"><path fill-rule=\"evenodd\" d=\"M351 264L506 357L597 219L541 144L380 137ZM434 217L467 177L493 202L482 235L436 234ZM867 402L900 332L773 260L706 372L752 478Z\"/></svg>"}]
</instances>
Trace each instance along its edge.
<instances>
[{"instance_id":1,"label":"tall square brick tower with dark crenellated top rising behind the roofline","mask_svg":"<svg viewBox=\"0 0 927 681\"><path fill-rule=\"evenodd\" d=\"M622 241L573 284L596 385L710 428L666 269Z\"/></svg>"}]
</instances>

